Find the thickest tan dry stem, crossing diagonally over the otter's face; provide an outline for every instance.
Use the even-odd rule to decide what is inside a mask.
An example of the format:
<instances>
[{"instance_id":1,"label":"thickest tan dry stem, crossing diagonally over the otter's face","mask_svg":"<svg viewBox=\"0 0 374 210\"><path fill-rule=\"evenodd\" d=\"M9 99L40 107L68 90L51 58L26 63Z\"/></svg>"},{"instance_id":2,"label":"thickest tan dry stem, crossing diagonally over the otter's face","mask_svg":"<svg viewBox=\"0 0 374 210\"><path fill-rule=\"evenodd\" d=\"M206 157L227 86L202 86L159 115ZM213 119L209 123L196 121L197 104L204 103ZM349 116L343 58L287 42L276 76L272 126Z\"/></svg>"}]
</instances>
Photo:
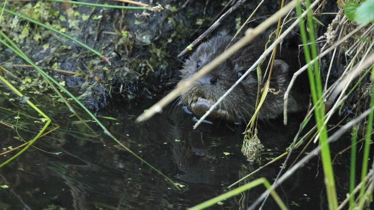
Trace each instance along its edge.
<instances>
[{"instance_id":1,"label":"thickest tan dry stem, crossing diagonally over the otter's face","mask_svg":"<svg viewBox=\"0 0 374 210\"><path fill-rule=\"evenodd\" d=\"M191 86L191 84L195 81L197 81L200 77L207 74L209 71L211 71L214 67L216 67L218 64L229 58L233 53L235 53L237 50L239 50L242 46L244 46L246 43L251 41L256 35L261 34L266 28L270 27L274 22L278 21L278 18L285 15L289 10L294 8L296 6L297 0L292 0L290 3L288 3L283 9L278 10L274 15L270 16L270 18L266 19L264 22L262 22L260 25L258 25L256 28L252 29L249 28L245 36L242 37L240 40L238 40L236 43L234 43L232 46L230 46L225 52L221 53L217 58L213 59L208 65L203 67L200 71L196 72L189 80L180 82L177 88L175 88L172 92L170 92L168 95L166 95L164 98L162 98L160 101L158 101L156 104L151 106L151 108L148 109L148 111L142 113L137 119L136 122L141 122L148 120L150 117L152 117L157 112L161 112L162 108L169 104L172 100L177 98L184 90L186 90L188 87ZM318 1L318 0L316 0ZM291 30L289 30L291 31ZM282 37L283 38L283 37ZM270 51L269 51L270 52ZM248 71L246 72L248 73ZM242 78L242 77L241 77ZM217 103L216 103L217 104Z\"/></svg>"}]
</instances>

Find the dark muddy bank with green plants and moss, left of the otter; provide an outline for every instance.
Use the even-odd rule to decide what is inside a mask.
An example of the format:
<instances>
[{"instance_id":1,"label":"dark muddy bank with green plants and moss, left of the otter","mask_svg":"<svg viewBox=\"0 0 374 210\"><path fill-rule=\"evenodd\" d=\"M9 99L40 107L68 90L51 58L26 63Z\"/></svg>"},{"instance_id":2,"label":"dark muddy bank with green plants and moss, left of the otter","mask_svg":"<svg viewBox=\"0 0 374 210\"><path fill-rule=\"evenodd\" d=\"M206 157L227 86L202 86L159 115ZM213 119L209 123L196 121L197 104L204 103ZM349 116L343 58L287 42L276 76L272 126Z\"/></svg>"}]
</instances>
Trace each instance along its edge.
<instances>
[{"instance_id":1,"label":"dark muddy bank with green plants and moss, left of the otter","mask_svg":"<svg viewBox=\"0 0 374 210\"><path fill-rule=\"evenodd\" d=\"M248 1L240 6L212 35L234 33L259 2ZM164 10L108 9L49 1L11 2L7 5L13 12L77 38L107 56L111 65L79 44L19 17L4 13L1 25L3 32L38 66L74 72L67 74L45 69L75 92L88 108L97 110L114 101L128 105L155 96L159 98L171 89L178 80L182 62L189 54L182 58L177 58L177 55L226 11L223 9L227 1L163 0L146 3L151 6L161 4ZM121 5L114 1L110 4ZM263 5L248 27L258 25L273 14L278 4L278 1L273 1ZM50 92L35 70L22 66L26 62L4 46L0 46L0 50L4 52L0 64L21 78L8 77L9 80L29 95ZM40 89L40 84L44 85L43 89Z\"/></svg>"}]
</instances>

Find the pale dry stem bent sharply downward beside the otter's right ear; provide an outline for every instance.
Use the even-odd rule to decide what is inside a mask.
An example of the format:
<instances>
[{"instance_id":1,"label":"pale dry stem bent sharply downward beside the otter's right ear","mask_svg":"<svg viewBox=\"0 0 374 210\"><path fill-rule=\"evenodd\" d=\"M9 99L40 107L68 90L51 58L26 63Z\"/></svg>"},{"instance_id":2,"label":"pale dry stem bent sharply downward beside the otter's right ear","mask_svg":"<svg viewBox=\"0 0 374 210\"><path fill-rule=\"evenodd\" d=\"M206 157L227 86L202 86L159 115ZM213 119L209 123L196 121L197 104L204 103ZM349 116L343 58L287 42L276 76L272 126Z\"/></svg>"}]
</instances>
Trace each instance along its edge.
<instances>
[{"instance_id":1,"label":"pale dry stem bent sharply downward beside the otter's right ear","mask_svg":"<svg viewBox=\"0 0 374 210\"><path fill-rule=\"evenodd\" d=\"M307 63L306 65L304 65L303 67L301 67L297 72L294 73L294 75L292 76L292 79L291 79L291 81L290 81L290 83L289 83L289 85L287 87L287 90L286 90L286 92L284 94L284 97L283 97L283 100L284 100L284 106L283 106L283 123L284 124L287 124L288 95L289 95L289 92L291 91L292 86L295 83L296 77L298 75L300 75L302 72L304 72L310 65L312 65L314 62L316 62L318 59L320 59L323 56L327 55L327 53L329 53L332 50L334 50L341 43L343 43L344 41L346 41L348 38L350 38L353 34L355 34L356 32L358 32L359 30L361 30L363 27L365 27L365 25L360 25L355 30L351 31L349 34L345 35L343 38L341 38L340 40L336 41L335 44L333 44L331 47L329 47L324 52L320 53L315 59L313 59L312 61L310 61L309 63Z\"/></svg>"}]
</instances>

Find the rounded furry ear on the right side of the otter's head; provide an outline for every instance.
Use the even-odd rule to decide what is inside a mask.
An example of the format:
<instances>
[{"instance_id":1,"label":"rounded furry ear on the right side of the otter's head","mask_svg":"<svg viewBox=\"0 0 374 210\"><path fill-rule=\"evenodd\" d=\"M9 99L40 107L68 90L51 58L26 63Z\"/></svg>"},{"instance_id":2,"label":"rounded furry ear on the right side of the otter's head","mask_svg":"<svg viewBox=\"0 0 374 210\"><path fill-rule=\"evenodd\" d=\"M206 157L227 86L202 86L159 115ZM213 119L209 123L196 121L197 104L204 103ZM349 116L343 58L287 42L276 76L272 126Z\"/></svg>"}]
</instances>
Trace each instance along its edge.
<instances>
[{"instance_id":1,"label":"rounded furry ear on the right side of the otter's head","mask_svg":"<svg viewBox=\"0 0 374 210\"><path fill-rule=\"evenodd\" d=\"M287 84L288 80L288 64L282 60L275 60L272 72L272 77L270 79L270 88L275 88L278 91L282 89Z\"/></svg>"}]
</instances>

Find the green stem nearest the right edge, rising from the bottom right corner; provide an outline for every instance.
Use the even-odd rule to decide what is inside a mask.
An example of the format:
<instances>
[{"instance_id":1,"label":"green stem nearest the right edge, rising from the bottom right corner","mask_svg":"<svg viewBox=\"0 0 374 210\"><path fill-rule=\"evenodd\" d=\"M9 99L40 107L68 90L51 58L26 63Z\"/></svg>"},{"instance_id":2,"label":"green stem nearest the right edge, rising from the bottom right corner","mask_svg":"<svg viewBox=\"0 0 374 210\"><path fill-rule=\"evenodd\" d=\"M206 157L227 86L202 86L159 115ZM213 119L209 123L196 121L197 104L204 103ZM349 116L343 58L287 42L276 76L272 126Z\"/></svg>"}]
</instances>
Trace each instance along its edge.
<instances>
[{"instance_id":1,"label":"green stem nearest the right edge, rising from the bottom right corner","mask_svg":"<svg viewBox=\"0 0 374 210\"><path fill-rule=\"evenodd\" d=\"M371 71L371 98L370 98L370 107L374 106L374 72ZM371 131L373 130L373 119L374 119L374 111L370 112L368 117L368 123L366 126L366 137L365 137L365 146L364 146L364 157L362 158L362 171L361 171L361 189L360 189L360 203L359 203L359 209L364 208L365 200L367 200L367 197L364 196L365 193L365 176L368 173L368 165L369 165L369 152L370 152L370 144L371 144Z\"/></svg>"}]
</instances>

